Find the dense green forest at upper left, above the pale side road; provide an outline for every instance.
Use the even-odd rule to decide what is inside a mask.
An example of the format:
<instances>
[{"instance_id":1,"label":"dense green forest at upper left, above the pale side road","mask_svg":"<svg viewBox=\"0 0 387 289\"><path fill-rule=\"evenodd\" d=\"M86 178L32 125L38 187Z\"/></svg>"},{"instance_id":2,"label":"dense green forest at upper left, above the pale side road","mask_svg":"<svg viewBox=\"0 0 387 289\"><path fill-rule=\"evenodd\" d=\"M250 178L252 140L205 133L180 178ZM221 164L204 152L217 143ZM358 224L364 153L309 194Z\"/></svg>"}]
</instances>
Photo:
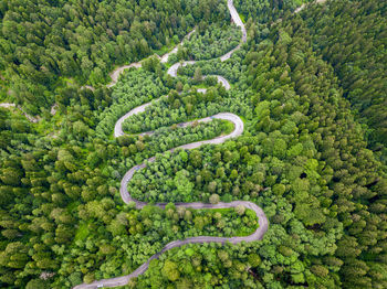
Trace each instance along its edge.
<instances>
[{"instance_id":1,"label":"dense green forest at upper left, above the pale side road","mask_svg":"<svg viewBox=\"0 0 387 289\"><path fill-rule=\"evenodd\" d=\"M14 101L32 114L53 104L61 76L105 83L114 65L148 56L197 23L226 21L228 13L220 0L4 3L0 71Z\"/></svg>"}]
</instances>

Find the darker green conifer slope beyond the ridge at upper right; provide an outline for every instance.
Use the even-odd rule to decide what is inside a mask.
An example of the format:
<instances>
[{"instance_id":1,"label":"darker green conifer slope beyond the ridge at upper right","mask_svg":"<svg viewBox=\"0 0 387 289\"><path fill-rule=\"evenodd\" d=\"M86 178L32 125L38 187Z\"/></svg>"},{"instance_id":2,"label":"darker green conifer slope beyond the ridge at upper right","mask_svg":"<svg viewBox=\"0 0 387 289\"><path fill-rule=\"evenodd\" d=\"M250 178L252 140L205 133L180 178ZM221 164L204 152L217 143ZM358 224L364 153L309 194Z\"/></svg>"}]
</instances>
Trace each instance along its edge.
<instances>
[{"instance_id":1,"label":"darker green conifer slope beyond the ridge at upper right","mask_svg":"<svg viewBox=\"0 0 387 289\"><path fill-rule=\"evenodd\" d=\"M315 18L316 14L321 17ZM332 1L303 13L313 46L328 61L341 79L345 97L368 124L373 147L387 144L387 35L385 1Z\"/></svg>"}]
</instances>

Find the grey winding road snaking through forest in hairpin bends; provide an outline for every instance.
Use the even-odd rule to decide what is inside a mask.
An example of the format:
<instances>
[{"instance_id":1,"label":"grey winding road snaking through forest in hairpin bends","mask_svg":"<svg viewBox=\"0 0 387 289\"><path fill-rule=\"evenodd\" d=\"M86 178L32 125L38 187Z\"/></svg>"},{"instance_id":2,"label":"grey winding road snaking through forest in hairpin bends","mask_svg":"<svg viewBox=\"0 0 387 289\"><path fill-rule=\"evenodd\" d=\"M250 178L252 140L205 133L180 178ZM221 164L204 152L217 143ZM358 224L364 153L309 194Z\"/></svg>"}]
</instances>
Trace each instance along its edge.
<instances>
[{"instance_id":1,"label":"grey winding road snaking through forest in hairpin bends","mask_svg":"<svg viewBox=\"0 0 387 289\"><path fill-rule=\"evenodd\" d=\"M241 30L242 30L242 43L244 43L247 41L245 28L244 28L240 17L239 17L239 14L238 14L236 8L234 8L234 6L233 6L232 0L228 0L228 8L229 8L229 11L230 11L232 21L238 26L240 26ZM190 32L190 34L192 32ZM185 39L189 38L190 34L188 34ZM232 53L236 52L237 50L239 50L240 46L241 46L241 44L239 44L236 49L233 49L232 51L228 52L223 56L220 56L219 57L220 61L223 62L223 61L230 58ZM166 55L161 56L160 57L161 62L167 62L168 56L171 53L176 53L176 52L177 52L177 49L174 49L170 53L167 53ZM180 66L192 65L195 63L196 62L194 62L194 61L187 61L187 62L182 62L182 63L177 63L177 64L172 65L168 69L168 74L171 75L172 77L176 77L177 76L177 69ZM111 74L112 83L108 84L108 87L111 87L111 86L116 84L119 74L124 69L129 68L129 67L140 67L140 66L142 66L142 63L138 62L138 63L132 63L129 65L125 65L125 66L122 66L122 67L117 68L116 71L114 71ZM226 89L230 89L230 84L224 77L222 77L220 75L212 75L212 76L216 76L218 78L218 82L221 83L226 87ZM206 93L206 88L201 88L199 92ZM117 138L117 137L121 137L121 136L125 135L125 132L123 131L123 128L122 128L123 122L125 121L125 119L127 119L128 117L130 117L133 115L144 113L146 107L148 107L150 105L151 105L151 103L147 103L147 104L144 104L142 106L138 106L138 107L132 109L130 111L128 111L122 118L119 118L117 120L116 125L115 125L115 128L114 128L114 137ZM211 116L211 117L206 117L206 118L202 118L202 119L199 119L199 120L196 120L196 121L198 121L198 122L207 122L207 121L211 121L212 119L229 120L229 121L231 121L234 125L234 129L229 135L220 136L220 137L217 137L217 138L213 138L213 139L210 139L210 140L203 140L203 141L197 141L197 142L192 142L192 143L187 143L187 144L174 148L174 149L171 149L169 151L172 152L176 149L190 150L190 149L199 148L200 146L203 146L203 144L207 144L207 143L209 143L209 144L219 144L219 143L222 143L222 142L227 141L228 139L237 138L237 137L239 137L239 136L241 136L243 133L243 128L244 128L243 127L243 121L241 120L241 118L239 116L237 116L234 114L231 114L231 113L221 113L221 114L218 114L218 115L215 115L215 116ZM178 126L179 127L187 127L187 126L191 125L192 122L194 121L188 121L188 122L179 124ZM147 131L147 132L142 132L139 135L153 135L153 133L154 133L154 131ZM155 160L156 160L155 157L149 158L145 162L143 162L142 164L133 167L130 170L128 170L125 173L125 175L124 175L124 178L123 178L123 180L121 182L119 193L121 193L121 197L123 199L123 201L126 204L128 204L130 202L134 202L136 204L136 208L143 208L147 204L145 202L140 202L140 201L137 201L137 200L133 199L130 196L129 192L127 191L127 185L128 185L128 182L132 180L132 178L133 178L133 175L135 174L136 171L146 168L147 163L154 162ZM155 205L158 206L158 207L164 208L166 206L166 203L156 203ZM124 285L126 285L129 281L130 278L134 278L134 277L137 277L137 276L144 274L148 269L149 263L153 259L158 258L166 250L169 250L169 249L175 248L175 247L180 247L180 246L184 246L184 245L187 245L187 244L195 244L195 243L210 243L210 242L215 242L215 243L221 243L221 244L224 244L224 243L237 244L237 243L241 243L243 240L244 242L254 242L254 240L261 239L263 237L263 235L265 234L265 232L268 231L268 227L269 227L269 221L268 221L268 217L265 216L263 210L261 207L259 207L257 204L252 203L252 202L234 201L234 202L230 202L230 203L220 202L220 203L217 203L217 204L208 204L208 203L196 202L196 203L175 203L175 205L176 205L176 207L184 206L184 207L190 207L190 208L195 208L195 210L199 210L199 208L230 208L230 207L236 207L236 206L242 205L242 206L244 206L247 208L252 210L255 213L255 215L258 217L258 222L259 222L259 227L257 228L257 231L253 234L251 234L249 236L243 236L243 237L199 236L199 237L186 238L186 239L182 239L182 240L170 242L160 251L158 251L157 254L153 255L146 263L144 263L142 266L139 266L135 271L133 271L129 275L122 276L122 277L116 277L116 278L111 278L111 279L102 279L102 280L98 280L98 281L94 281L92 283L82 283L82 285L75 286L74 289L91 289L91 288L101 288L101 287L124 286Z\"/></svg>"}]
</instances>

